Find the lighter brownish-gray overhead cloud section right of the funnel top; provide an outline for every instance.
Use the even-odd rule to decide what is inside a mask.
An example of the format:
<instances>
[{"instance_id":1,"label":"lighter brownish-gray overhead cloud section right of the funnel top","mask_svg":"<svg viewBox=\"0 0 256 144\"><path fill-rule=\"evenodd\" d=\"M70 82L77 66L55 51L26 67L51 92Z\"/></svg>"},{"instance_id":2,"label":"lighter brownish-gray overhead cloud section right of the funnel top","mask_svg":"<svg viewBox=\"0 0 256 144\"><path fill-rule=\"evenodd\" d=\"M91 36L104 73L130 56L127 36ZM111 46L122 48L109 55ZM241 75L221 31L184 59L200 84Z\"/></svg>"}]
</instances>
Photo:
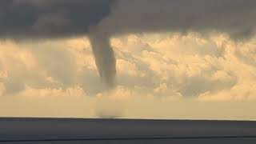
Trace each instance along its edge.
<instances>
[{"instance_id":1,"label":"lighter brownish-gray overhead cloud section right of the funnel top","mask_svg":"<svg viewBox=\"0 0 256 144\"><path fill-rule=\"evenodd\" d=\"M254 0L122 0L101 22L110 33L217 30L233 38L254 34Z\"/></svg>"}]
</instances>

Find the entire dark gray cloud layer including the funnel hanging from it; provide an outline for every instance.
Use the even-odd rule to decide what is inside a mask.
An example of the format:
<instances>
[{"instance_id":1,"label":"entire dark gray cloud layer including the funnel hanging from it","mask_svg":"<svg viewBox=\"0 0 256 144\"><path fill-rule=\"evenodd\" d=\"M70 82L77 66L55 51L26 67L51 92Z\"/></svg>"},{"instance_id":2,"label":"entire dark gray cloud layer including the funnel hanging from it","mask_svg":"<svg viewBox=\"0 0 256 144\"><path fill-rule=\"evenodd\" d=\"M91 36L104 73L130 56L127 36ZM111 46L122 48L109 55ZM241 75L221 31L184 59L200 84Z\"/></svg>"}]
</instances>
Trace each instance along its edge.
<instances>
[{"instance_id":1,"label":"entire dark gray cloud layer including the funnel hanging from it","mask_svg":"<svg viewBox=\"0 0 256 144\"><path fill-rule=\"evenodd\" d=\"M99 74L107 86L114 86L110 35L193 30L249 38L255 32L255 14L254 0L2 0L0 37L53 38L90 32Z\"/></svg>"}]
</instances>

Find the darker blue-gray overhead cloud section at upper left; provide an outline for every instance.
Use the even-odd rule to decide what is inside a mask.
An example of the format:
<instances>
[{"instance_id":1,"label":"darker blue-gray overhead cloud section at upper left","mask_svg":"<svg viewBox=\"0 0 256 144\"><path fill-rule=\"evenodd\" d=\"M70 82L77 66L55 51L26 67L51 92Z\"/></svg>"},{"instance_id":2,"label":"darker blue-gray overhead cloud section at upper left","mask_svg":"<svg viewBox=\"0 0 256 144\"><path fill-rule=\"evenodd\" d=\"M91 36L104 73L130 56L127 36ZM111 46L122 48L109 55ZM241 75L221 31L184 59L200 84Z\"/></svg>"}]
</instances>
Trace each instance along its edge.
<instances>
[{"instance_id":1,"label":"darker blue-gray overhead cloud section at upper left","mask_svg":"<svg viewBox=\"0 0 256 144\"><path fill-rule=\"evenodd\" d=\"M112 0L2 0L2 38L50 38L88 32L110 14Z\"/></svg>"}]
</instances>

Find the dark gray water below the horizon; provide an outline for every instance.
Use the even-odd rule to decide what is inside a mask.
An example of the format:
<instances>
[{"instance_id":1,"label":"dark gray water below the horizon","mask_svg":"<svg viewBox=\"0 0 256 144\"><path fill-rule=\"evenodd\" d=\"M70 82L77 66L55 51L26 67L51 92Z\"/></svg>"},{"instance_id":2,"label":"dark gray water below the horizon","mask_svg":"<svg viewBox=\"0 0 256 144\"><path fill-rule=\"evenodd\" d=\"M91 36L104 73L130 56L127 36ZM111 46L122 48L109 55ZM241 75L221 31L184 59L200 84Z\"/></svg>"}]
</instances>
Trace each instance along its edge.
<instances>
[{"instance_id":1,"label":"dark gray water below the horizon","mask_svg":"<svg viewBox=\"0 0 256 144\"><path fill-rule=\"evenodd\" d=\"M256 143L256 122L0 118L0 143Z\"/></svg>"}]
</instances>

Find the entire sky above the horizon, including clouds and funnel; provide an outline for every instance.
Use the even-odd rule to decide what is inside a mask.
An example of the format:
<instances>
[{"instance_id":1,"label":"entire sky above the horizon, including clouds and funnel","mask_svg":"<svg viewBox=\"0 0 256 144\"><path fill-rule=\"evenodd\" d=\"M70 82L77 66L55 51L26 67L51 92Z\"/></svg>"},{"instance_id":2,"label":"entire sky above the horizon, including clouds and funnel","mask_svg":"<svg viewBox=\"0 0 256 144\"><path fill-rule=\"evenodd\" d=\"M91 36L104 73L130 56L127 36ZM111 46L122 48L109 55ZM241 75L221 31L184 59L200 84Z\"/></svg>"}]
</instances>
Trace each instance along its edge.
<instances>
[{"instance_id":1,"label":"entire sky above the horizon, including clouds and funnel","mask_svg":"<svg viewBox=\"0 0 256 144\"><path fill-rule=\"evenodd\" d=\"M0 3L1 117L256 120L255 1Z\"/></svg>"}]
</instances>

